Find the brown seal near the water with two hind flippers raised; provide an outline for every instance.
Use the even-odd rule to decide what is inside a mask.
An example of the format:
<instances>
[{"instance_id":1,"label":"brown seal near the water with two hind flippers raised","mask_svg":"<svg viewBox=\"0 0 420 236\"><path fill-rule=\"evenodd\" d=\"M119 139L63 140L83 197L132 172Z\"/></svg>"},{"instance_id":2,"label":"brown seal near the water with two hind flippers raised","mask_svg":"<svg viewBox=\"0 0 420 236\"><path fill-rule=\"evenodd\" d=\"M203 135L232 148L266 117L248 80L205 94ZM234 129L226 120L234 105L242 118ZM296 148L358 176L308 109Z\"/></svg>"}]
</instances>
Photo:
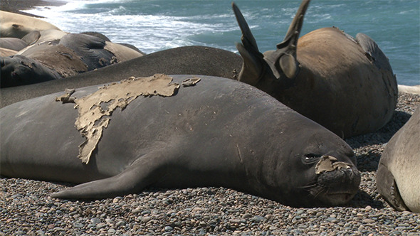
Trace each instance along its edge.
<instances>
[{"instance_id":1,"label":"brown seal near the water with two hind flippers raised","mask_svg":"<svg viewBox=\"0 0 420 236\"><path fill-rule=\"evenodd\" d=\"M352 38L320 28L299 39L304 0L282 43L260 53L241 11L233 4L242 43L239 81L268 92L305 117L347 138L387 124L397 104L397 80L388 58L368 36Z\"/></svg>"}]
</instances>

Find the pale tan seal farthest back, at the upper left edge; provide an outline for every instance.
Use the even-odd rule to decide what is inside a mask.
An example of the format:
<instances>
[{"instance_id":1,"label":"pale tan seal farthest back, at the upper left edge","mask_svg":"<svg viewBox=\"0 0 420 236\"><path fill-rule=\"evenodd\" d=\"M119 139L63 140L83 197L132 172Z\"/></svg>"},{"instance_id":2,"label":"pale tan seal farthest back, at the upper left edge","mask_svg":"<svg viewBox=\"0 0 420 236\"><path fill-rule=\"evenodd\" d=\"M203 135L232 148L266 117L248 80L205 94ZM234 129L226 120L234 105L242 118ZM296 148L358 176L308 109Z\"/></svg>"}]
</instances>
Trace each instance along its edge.
<instances>
[{"instance_id":1,"label":"pale tan seal farthest back, at the upper left edge","mask_svg":"<svg viewBox=\"0 0 420 236\"><path fill-rule=\"evenodd\" d=\"M41 19L0 11L0 37L22 38L32 31L48 29L60 30L58 27Z\"/></svg>"}]
</instances>

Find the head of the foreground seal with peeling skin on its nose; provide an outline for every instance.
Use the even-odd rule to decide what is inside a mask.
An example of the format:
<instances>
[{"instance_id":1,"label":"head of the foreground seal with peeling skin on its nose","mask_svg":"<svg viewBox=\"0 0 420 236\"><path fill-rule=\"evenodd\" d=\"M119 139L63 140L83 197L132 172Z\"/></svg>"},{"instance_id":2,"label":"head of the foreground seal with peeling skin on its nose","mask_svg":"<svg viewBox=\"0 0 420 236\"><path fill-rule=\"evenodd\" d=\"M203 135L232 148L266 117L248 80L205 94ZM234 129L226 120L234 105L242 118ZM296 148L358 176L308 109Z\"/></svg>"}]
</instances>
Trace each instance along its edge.
<instances>
[{"instance_id":1,"label":"head of the foreground seal with peeling skin on its nose","mask_svg":"<svg viewBox=\"0 0 420 236\"><path fill-rule=\"evenodd\" d=\"M295 174L296 183L290 191L303 198L293 200L299 200L300 206L343 205L359 189L360 173L352 149L339 137L323 133L318 130L307 136L304 151L293 156L293 165L302 173Z\"/></svg>"}]
</instances>

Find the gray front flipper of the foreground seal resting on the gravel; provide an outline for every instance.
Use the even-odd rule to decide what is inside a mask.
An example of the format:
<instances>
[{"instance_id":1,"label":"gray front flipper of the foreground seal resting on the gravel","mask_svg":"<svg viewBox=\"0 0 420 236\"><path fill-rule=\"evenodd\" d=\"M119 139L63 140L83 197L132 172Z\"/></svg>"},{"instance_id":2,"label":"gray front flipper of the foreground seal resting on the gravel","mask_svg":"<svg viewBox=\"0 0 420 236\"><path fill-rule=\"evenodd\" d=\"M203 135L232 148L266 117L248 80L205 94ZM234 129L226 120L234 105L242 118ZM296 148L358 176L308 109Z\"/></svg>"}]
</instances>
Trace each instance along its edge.
<instances>
[{"instance_id":1,"label":"gray front flipper of the foreground seal resting on the gravel","mask_svg":"<svg viewBox=\"0 0 420 236\"><path fill-rule=\"evenodd\" d=\"M146 154L116 176L82 183L73 188L53 193L51 197L102 199L139 193L143 188L157 180L157 178L151 176L159 176L159 173L157 173L159 171L159 157L156 154Z\"/></svg>"}]
</instances>

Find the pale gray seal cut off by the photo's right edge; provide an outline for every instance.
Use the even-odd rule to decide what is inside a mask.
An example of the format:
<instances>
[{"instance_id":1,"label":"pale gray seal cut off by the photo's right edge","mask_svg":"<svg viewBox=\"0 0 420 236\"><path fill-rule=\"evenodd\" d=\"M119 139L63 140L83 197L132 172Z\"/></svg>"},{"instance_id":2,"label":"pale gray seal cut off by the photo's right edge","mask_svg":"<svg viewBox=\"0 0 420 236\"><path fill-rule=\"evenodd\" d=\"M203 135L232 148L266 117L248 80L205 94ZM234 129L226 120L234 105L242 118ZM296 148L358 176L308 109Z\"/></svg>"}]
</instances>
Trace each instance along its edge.
<instances>
[{"instance_id":1,"label":"pale gray seal cut off by the photo's right edge","mask_svg":"<svg viewBox=\"0 0 420 236\"><path fill-rule=\"evenodd\" d=\"M382 153L377 187L397 210L420 213L420 105Z\"/></svg>"}]
</instances>

